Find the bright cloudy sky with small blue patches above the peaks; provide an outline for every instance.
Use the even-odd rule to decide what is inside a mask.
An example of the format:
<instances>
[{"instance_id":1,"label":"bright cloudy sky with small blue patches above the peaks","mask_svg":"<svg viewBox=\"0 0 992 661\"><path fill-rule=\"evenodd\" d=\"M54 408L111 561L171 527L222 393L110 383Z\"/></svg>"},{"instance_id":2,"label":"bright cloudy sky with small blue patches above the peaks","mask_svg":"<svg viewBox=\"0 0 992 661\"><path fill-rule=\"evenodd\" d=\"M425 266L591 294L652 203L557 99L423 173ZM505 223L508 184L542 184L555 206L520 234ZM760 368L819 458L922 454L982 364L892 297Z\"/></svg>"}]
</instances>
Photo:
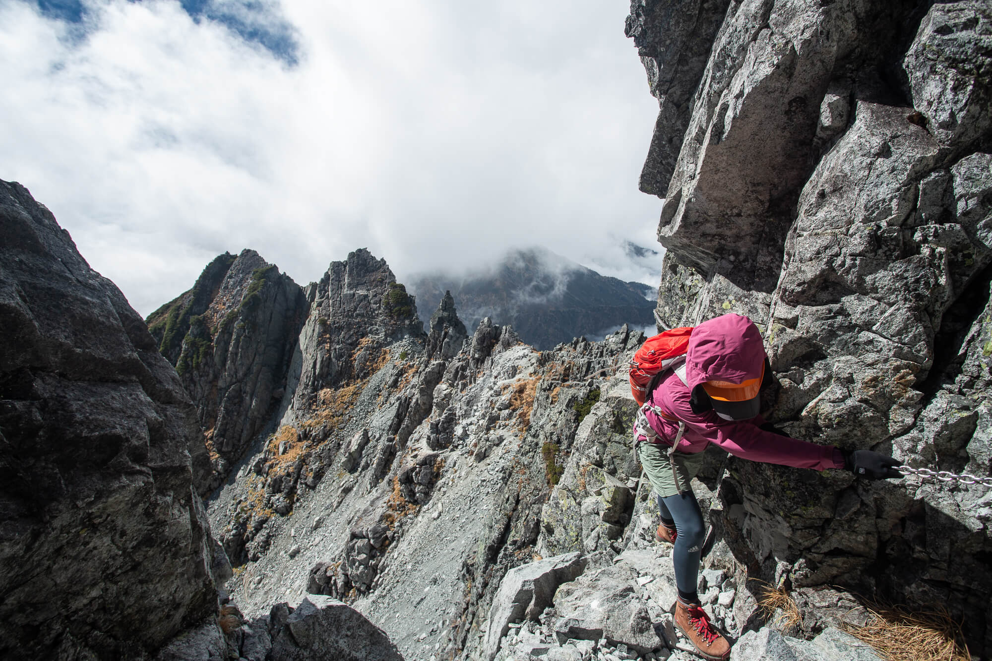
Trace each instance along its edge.
<instances>
[{"instance_id":1,"label":"bright cloudy sky with small blue patches above the peaks","mask_svg":"<svg viewBox=\"0 0 992 661\"><path fill-rule=\"evenodd\" d=\"M143 315L214 256L298 283L539 245L657 285L627 0L0 0L0 179Z\"/></svg>"}]
</instances>

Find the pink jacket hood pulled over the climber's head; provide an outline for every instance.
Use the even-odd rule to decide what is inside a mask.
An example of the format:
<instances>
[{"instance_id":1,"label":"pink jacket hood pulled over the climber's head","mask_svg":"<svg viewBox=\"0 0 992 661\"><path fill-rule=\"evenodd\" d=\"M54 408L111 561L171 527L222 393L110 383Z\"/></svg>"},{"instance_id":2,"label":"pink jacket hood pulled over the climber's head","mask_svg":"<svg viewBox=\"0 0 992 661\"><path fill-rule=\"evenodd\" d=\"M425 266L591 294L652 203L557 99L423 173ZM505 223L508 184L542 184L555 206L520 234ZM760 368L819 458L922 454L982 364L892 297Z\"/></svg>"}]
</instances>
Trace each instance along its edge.
<instances>
[{"instance_id":1,"label":"pink jacket hood pulled over the climber's head","mask_svg":"<svg viewBox=\"0 0 992 661\"><path fill-rule=\"evenodd\" d=\"M747 317L723 315L695 327L685 352L685 385L705 381L743 383L759 378L765 365L765 344Z\"/></svg>"}]
</instances>

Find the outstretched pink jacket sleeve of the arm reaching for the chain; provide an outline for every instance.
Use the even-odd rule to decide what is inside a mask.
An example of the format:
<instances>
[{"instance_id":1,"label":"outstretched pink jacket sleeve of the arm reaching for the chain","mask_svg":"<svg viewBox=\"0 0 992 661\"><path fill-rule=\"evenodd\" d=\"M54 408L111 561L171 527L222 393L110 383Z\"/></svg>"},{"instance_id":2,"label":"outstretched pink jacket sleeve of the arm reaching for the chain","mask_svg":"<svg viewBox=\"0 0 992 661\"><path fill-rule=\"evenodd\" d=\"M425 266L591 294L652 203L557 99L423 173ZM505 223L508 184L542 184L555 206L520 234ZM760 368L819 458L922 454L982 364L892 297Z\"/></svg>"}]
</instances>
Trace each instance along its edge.
<instances>
[{"instance_id":1,"label":"outstretched pink jacket sleeve of the arm reaching for the chain","mask_svg":"<svg viewBox=\"0 0 992 661\"><path fill-rule=\"evenodd\" d=\"M680 396L681 394L675 394L669 401L673 412L696 435L719 446L734 457L752 462L778 463L816 470L844 467L843 456L834 446L820 446L788 436L780 436L774 432L766 432L758 428L758 425L764 422L760 417L735 422L723 420L714 411L692 413L688 405L687 391L683 397Z\"/></svg>"}]
</instances>

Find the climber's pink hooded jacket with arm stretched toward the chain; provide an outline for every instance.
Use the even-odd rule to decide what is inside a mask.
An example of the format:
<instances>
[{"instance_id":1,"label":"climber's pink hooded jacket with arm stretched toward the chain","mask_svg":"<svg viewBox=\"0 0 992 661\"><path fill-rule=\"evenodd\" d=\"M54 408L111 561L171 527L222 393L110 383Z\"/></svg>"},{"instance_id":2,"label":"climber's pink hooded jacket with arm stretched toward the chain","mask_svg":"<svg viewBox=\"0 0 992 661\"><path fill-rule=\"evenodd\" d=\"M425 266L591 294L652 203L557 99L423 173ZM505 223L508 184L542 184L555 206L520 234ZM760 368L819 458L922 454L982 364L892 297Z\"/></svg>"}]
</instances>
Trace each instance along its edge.
<instances>
[{"instance_id":1,"label":"climber's pink hooded jacket with arm stretched toward the chain","mask_svg":"<svg viewBox=\"0 0 992 661\"><path fill-rule=\"evenodd\" d=\"M780 463L797 468L842 468L843 456L833 446L819 446L799 439L759 429L765 421L729 421L715 411L692 413L692 388L709 380L741 383L758 378L765 364L761 333L747 317L723 315L703 322L692 331L685 353L685 383L675 371L668 371L652 391L649 402L678 420L669 420L654 411L646 413L652 429L668 441L679 433L679 420L685 432L679 443L682 453L701 453L710 443L726 452L753 462ZM645 440L644 436L639 437Z\"/></svg>"}]
</instances>

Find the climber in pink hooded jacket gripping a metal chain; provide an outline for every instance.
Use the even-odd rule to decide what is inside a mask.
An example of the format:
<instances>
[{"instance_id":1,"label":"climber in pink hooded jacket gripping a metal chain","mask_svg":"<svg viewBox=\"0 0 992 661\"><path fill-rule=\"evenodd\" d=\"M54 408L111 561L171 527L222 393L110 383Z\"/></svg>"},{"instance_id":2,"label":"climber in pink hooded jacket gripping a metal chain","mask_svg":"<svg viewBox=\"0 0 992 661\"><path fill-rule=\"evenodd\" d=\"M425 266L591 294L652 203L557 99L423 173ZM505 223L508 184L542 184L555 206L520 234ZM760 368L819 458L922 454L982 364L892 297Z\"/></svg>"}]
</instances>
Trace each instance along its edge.
<instances>
[{"instance_id":1,"label":"climber in pink hooded jacket gripping a metal chain","mask_svg":"<svg viewBox=\"0 0 992 661\"><path fill-rule=\"evenodd\" d=\"M742 459L797 468L848 468L870 478L900 477L899 462L871 451L847 454L785 436L759 415L759 391L771 381L761 332L747 317L723 315L691 331L684 361L656 377L634 434L661 510L659 541L675 544L676 624L707 659L730 645L709 622L696 594L702 513L690 480L710 443ZM675 448L673 449L673 445Z\"/></svg>"}]
</instances>

